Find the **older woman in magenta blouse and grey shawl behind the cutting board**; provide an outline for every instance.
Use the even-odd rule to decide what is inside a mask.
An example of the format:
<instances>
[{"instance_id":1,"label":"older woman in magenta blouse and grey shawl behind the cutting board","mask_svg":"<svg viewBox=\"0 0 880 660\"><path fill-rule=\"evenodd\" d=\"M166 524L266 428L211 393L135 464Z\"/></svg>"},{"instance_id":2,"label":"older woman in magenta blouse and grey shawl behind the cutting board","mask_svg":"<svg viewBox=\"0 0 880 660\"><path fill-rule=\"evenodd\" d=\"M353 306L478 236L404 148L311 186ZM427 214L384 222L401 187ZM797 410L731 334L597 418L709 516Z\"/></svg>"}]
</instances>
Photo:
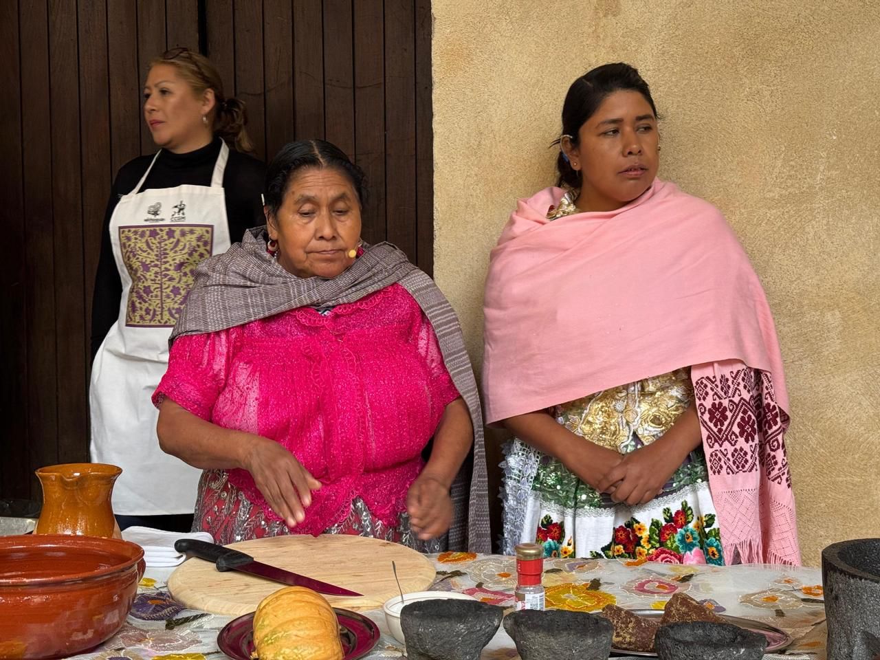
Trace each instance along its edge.
<instances>
[{"instance_id":1,"label":"older woman in magenta blouse and grey shawl behind the cutting board","mask_svg":"<svg viewBox=\"0 0 880 660\"><path fill-rule=\"evenodd\" d=\"M220 543L329 532L488 550L458 322L399 250L362 246L362 201L334 145L275 157L267 226L199 268L153 395L159 442L205 470L194 527Z\"/></svg>"}]
</instances>

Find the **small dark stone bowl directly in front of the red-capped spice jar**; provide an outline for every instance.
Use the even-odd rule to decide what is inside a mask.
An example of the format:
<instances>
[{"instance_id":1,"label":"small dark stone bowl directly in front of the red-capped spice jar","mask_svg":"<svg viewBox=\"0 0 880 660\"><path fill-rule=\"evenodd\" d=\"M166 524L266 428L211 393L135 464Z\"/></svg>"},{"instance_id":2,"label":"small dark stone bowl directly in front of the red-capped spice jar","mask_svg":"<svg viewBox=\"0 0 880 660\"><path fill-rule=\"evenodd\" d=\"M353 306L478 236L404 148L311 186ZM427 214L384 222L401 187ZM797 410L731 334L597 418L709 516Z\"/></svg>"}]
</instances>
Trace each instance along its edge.
<instances>
[{"instance_id":1,"label":"small dark stone bowl directly in front of the red-capped spice jar","mask_svg":"<svg viewBox=\"0 0 880 660\"><path fill-rule=\"evenodd\" d=\"M523 660L606 660L611 621L586 612L521 610L504 619L504 629Z\"/></svg>"}]
</instances>

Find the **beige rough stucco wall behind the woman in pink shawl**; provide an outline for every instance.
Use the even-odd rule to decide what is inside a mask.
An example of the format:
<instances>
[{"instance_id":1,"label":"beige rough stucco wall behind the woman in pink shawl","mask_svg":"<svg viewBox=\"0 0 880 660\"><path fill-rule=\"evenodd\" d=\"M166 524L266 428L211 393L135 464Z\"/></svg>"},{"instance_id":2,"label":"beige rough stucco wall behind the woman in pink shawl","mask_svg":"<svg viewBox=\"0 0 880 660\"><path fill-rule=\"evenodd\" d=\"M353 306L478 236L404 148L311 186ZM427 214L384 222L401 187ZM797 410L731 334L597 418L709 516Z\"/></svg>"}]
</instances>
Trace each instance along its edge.
<instances>
[{"instance_id":1,"label":"beige rough stucco wall behind the woman in pink shawl","mask_svg":"<svg viewBox=\"0 0 880 660\"><path fill-rule=\"evenodd\" d=\"M434 0L436 281L482 352L488 252L551 183L571 81L624 61L660 175L714 202L774 310L804 561L880 536L880 3Z\"/></svg>"}]
</instances>

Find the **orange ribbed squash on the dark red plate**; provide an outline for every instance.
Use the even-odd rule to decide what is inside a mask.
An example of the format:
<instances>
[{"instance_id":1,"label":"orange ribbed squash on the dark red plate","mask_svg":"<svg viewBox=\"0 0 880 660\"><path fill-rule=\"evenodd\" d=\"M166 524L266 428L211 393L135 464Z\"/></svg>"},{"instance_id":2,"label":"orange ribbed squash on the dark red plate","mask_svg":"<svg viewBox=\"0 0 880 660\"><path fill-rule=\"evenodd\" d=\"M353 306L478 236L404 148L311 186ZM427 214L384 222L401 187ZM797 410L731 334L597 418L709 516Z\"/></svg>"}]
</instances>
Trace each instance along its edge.
<instances>
[{"instance_id":1,"label":"orange ribbed squash on the dark red plate","mask_svg":"<svg viewBox=\"0 0 880 660\"><path fill-rule=\"evenodd\" d=\"M342 660L339 620L326 598L285 587L263 598L253 614L253 656L260 660Z\"/></svg>"}]
</instances>

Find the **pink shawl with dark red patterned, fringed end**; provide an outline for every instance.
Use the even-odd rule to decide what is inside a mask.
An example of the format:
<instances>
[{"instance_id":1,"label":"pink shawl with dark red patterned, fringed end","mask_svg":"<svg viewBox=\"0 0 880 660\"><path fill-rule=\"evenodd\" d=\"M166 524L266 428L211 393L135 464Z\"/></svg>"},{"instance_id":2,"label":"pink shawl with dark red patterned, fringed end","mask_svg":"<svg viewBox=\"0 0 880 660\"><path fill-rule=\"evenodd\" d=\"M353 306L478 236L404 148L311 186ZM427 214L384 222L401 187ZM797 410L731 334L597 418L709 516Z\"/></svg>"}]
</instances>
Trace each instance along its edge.
<instances>
[{"instance_id":1,"label":"pink shawl with dark red patterned, fringed end","mask_svg":"<svg viewBox=\"0 0 880 660\"><path fill-rule=\"evenodd\" d=\"M617 210L547 219L564 192L520 200L491 253L487 421L692 366L726 557L800 563L779 343L737 237L669 182Z\"/></svg>"}]
</instances>

